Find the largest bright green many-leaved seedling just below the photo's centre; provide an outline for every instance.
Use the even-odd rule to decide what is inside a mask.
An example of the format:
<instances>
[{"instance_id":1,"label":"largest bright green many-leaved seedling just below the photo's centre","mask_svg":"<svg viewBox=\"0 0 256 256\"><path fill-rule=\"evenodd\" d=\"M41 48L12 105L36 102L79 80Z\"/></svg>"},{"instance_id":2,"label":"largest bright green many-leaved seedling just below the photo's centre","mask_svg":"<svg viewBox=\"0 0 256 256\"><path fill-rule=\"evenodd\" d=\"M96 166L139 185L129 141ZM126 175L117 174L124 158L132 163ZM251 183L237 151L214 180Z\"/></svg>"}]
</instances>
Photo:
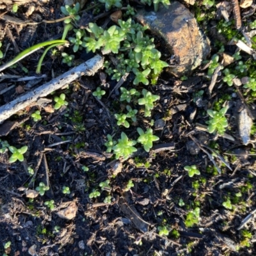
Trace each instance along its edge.
<instances>
[{"instance_id":1,"label":"largest bright green many-leaved seedling just below the photo's centre","mask_svg":"<svg viewBox=\"0 0 256 256\"><path fill-rule=\"evenodd\" d=\"M133 147L136 145L136 143L137 141L129 140L127 135L122 132L121 138L118 139L118 143L113 147L114 153L116 154L116 159L123 157L124 160L127 160L133 152L137 151L137 148Z\"/></svg>"}]
</instances>

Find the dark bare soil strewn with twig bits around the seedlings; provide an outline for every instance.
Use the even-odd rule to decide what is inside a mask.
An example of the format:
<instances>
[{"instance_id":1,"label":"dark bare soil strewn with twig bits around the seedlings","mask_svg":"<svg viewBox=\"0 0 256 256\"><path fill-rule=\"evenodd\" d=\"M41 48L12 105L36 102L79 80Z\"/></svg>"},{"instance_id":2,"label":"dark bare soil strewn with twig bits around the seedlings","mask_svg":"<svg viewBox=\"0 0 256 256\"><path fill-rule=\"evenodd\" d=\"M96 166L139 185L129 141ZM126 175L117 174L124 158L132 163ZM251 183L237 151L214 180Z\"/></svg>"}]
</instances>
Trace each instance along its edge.
<instances>
[{"instance_id":1,"label":"dark bare soil strewn with twig bits around the seedlings","mask_svg":"<svg viewBox=\"0 0 256 256\"><path fill-rule=\"evenodd\" d=\"M61 17L59 1L35 6L35 21ZM29 4L23 4L14 14L10 4L6 10L13 17L26 20L24 13L28 7ZM3 31L6 26L10 29L20 49L54 38L63 28L61 22L40 24L35 28L4 20L0 24ZM15 48L6 35L2 42L1 49L10 44L4 61L10 60L16 54ZM161 51L161 45L158 45ZM33 76L42 52L35 52L21 61L28 68L28 74L24 74L19 65L8 69L8 74ZM83 54L81 58L88 60L92 56ZM47 79L38 85L68 69L67 65L61 64L60 56L48 56L42 68ZM127 161L116 161L111 153L106 153L104 146L107 134L115 135L116 140L120 138L123 129L116 125L113 114L125 108L124 102L118 100L118 92L109 99L106 96L116 84L108 76L104 83L106 97L100 100L102 104L93 97L92 92L104 80L104 70L93 77L82 77L56 92L56 95L65 93L68 106L54 113L40 109L41 121L34 122L31 118L38 109L36 106L24 109L6 121L15 122L17 127L6 132L3 124L1 140L17 148L27 145L28 151L24 154L24 162L12 164L8 163L10 152L0 154L0 253L15 256L255 255L254 219L242 228L252 234L250 239L246 240L242 230L237 230L241 221L255 209L255 156L250 155L255 152L255 145L245 146L239 137L237 98L230 97L225 101L230 106L227 133L235 141L196 129L198 124L205 125L208 120L206 110L223 99L223 95L233 92L227 85L218 88L218 84L209 97L206 92L211 82L205 72L207 70L196 70L187 81L163 72L156 86L147 87L161 97L152 117L145 118L139 111L137 123L125 132L129 138L135 138L136 127L145 130L154 120L154 134L160 140L154 143L150 153L137 144L138 152ZM131 81L130 75L123 86L130 87ZM0 95L1 105L19 97L17 86L26 89L26 82L10 79L1 81L0 86L6 83L8 86L15 84L15 88ZM205 93L198 104L193 99L200 90ZM53 97L49 95L48 98ZM53 104L49 104L50 109ZM231 170L220 158L214 157L221 170L218 173L209 158L214 153L212 150L230 164ZM113 175L118 164L119 167L122 165L122 172ZM184 166L193 164L201 175L191 178ZM33 167L34 176L29 176L28 166ZM82 166L88 166L88 172L84 172ZM99 183L107 179L111 188L101 191ZM125 191L129 180L134 187ZM44 196L29 199L27 189L35 189L40 182L50 189ZM63 186L70 188L69 195L62 193ZM99 197L89 198L93 189L101 192ZM241 198L237 199L239 192ZM111 204L104 204L108 195ZM232 198L232 210L222 205L227 198ZM44 205L49 200L54 200L53 211ZM59 215L68 205L70 211L76 212L71 220ZM200 207L198 223L186 227L186 217L195 207ZM170 234L159 236L157 227L164 225ZM176 231L178 235L175 235ZM11 246L4 250L8 241ZM249 246L244 245L245 241Z\"/></svg>"}]
</instances>

